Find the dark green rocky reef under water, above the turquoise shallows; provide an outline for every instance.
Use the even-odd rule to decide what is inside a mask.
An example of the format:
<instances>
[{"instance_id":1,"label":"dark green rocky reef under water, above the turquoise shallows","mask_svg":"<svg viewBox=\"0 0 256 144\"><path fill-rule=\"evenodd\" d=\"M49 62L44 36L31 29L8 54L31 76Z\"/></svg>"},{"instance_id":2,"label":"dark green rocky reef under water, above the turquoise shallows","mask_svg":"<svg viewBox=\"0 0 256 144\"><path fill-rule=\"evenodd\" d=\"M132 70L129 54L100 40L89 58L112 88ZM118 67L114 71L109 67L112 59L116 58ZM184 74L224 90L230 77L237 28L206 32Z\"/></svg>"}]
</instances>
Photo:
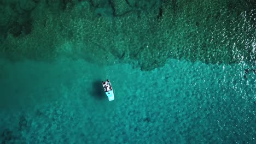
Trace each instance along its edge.
<instances>
[{"instance_id":1,"label":"dark green rocky reef under water, above the turquoise shallows","mask_svg":"<svg viewBox=\"0 0 256 144\"><path fill-rule=\"evenodd\" d=\"M170 58L255 63L255 8L249 0L6 0L0 2L0 51L11 61L65 55L136 63L142 70Z\"/></svg>"}]
</instances>

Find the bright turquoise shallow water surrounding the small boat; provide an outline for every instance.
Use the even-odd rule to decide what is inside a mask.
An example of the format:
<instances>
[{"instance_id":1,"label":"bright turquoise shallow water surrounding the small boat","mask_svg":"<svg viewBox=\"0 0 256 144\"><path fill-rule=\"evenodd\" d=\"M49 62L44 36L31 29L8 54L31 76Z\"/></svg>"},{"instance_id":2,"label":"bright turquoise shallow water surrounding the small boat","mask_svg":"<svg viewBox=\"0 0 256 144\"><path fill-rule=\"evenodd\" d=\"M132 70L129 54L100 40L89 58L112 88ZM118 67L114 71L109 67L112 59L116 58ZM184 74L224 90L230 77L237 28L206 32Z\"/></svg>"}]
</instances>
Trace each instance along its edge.
<instances>
[{"instance_id":1,"label":"bright turquoise shallow water surrounding the small boat","mask_svg":"<svg viewBox=\"0 0 256 144\"><path fill-rule=\"evenodd\" d=\"M255 74L244 63L170 59L152 71L1 61L6 143L255 143ZM5 72L3 72L5 71ZM110 79L115 100L105 97Z\"/></svg>"}]
</instances>

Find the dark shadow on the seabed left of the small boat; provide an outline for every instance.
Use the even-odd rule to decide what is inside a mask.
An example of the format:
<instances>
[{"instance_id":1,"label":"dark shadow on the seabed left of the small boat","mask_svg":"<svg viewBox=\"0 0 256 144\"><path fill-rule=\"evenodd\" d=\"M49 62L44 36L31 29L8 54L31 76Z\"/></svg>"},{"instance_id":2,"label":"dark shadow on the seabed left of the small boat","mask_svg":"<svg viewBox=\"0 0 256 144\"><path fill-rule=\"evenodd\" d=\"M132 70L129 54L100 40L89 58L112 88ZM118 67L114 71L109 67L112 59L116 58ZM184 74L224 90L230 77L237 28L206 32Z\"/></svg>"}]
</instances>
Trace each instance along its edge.
<instances>
[{"instance_id":1,"label":"dark shadow on the seabed left of the small boat","mask_svg":"<svg viewBox=\"0 0 256 144\"><path fill-rule=\"evenodd\" d=\"M106 94L101 85L101 80L95 80L92 82L91 95L98 100L106 99Z\"/></svg>"}]
</instances>

